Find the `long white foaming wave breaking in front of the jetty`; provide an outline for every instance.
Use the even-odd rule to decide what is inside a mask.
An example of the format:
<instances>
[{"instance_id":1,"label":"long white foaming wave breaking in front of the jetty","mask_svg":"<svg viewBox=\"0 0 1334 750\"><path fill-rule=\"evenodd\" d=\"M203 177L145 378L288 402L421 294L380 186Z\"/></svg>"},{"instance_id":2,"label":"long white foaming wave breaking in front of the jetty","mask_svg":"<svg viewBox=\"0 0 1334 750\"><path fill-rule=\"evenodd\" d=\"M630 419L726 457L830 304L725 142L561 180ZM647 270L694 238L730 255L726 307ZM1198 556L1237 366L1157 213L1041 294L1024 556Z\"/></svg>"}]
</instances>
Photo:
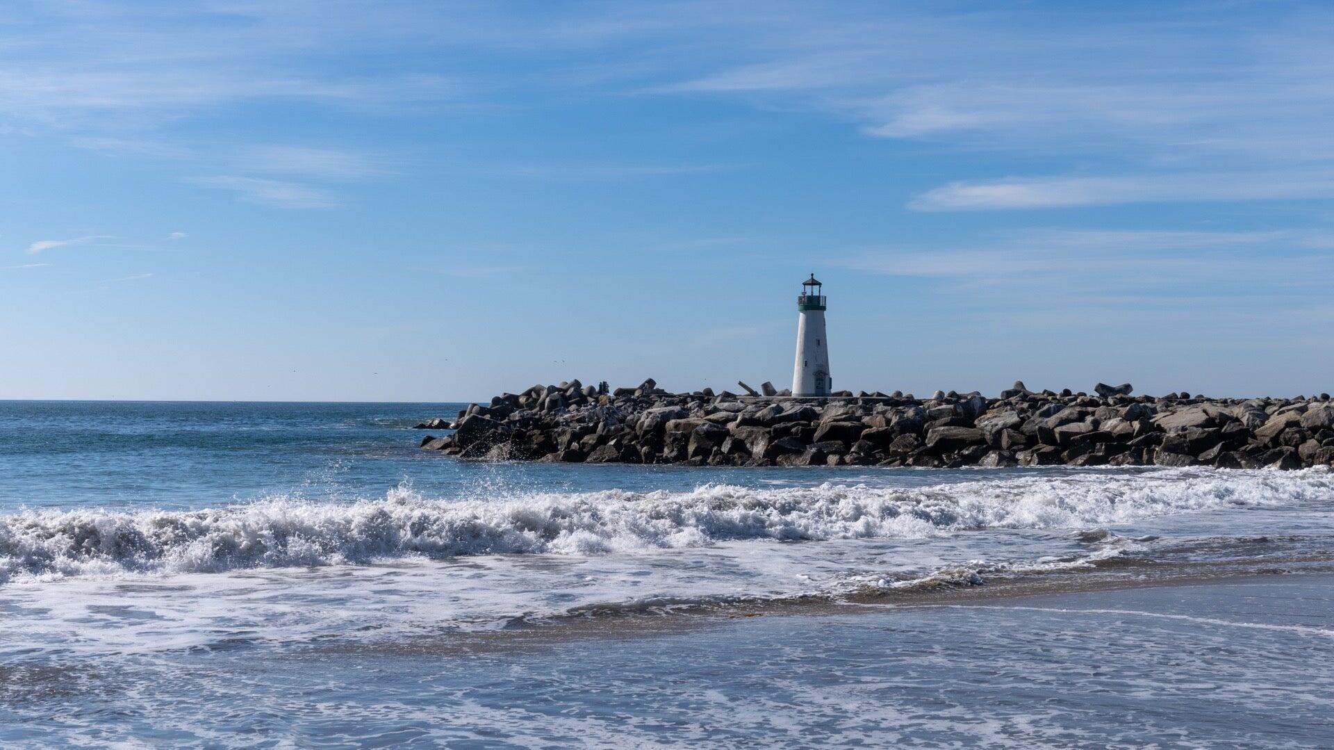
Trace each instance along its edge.
<instances>
[{"instance_id":1,"label":"long white foaming wave breaking in front of the jetty","mask_svg":"<svg viewBox=\"0 0 1334 750\"><path fill-rule=\"evenodd\" d=\"M29 510L0 516L0 582L487 554L594 555L726 540L926 538L1082 530L1153 515L1334 496L1310 470L1159 470L688 492L534 492L431 499L411 487L351 504L271 498L196 511Z\"/></svg>"}]
</instances>

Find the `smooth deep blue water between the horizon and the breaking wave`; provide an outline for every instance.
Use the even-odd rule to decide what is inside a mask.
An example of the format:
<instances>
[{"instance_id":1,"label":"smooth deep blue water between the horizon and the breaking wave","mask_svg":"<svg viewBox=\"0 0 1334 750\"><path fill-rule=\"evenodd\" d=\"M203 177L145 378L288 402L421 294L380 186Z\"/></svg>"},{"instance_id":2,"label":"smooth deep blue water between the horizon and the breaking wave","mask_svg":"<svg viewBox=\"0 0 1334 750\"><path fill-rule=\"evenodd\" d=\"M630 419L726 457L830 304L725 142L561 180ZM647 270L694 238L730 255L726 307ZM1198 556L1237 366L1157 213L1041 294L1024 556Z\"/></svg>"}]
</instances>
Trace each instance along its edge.
<instances>
[{"instance_id":1,"label":"smooth deep blue water between the horizon and the breaking wave","mask_svg":"<svg viewBox=\"0 0 1334 750\"><path fill-rule=\"evenodd\" d=\"M415 424L452 419L466 406L0 400L0 510L197 508L279 495L350 502L383 496L404 482L427 496L464 496L496 483L511 491L648 491L766 476L719 468L498 467L418 448L431 432ZM802 480L847 476L816 470Z\"/></svg>"}]
</instances>

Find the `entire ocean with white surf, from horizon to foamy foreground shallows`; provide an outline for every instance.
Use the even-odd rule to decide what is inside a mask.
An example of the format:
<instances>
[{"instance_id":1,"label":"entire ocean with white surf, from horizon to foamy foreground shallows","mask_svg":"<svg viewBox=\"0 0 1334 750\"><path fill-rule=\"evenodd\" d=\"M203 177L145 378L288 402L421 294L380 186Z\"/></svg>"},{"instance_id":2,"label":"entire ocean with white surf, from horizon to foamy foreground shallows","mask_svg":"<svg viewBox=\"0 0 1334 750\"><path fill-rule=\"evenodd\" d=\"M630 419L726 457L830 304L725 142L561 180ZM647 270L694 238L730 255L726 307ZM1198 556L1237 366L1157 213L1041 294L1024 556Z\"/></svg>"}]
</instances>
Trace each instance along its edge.
<instances>
[{"instance_id":1,"label":"entire ocean with white surf, from horizon to foamy foreground shallows","mask_svg":"<svg viewBox=\"0 0 1334 750\"><path fill-rule=\"evenodd\" d=\"M418 450L0 402L0 747L1330 747L1334 474Z\"/></svg>"}]
</instances>

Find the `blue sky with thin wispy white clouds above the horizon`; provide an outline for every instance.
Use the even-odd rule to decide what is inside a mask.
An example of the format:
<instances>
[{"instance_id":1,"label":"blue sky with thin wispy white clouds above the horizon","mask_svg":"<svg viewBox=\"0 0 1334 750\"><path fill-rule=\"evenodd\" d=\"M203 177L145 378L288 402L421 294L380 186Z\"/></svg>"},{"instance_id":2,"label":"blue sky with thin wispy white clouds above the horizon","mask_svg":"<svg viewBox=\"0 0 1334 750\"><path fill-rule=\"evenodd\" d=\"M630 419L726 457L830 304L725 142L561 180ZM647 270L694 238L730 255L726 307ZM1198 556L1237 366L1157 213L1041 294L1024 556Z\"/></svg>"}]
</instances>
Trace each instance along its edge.
<instances>
[{"instance_id":1,"label":"blue sky with thin wispy white clouds above the horizon","mask_svg":"<svg viewBox=\"0 0 1334 750\"><path fill-rule=\"evenodd\" d=\"M1334 390L1323 3L0 8L0 398Z\"/></svg>"}]
</instances>

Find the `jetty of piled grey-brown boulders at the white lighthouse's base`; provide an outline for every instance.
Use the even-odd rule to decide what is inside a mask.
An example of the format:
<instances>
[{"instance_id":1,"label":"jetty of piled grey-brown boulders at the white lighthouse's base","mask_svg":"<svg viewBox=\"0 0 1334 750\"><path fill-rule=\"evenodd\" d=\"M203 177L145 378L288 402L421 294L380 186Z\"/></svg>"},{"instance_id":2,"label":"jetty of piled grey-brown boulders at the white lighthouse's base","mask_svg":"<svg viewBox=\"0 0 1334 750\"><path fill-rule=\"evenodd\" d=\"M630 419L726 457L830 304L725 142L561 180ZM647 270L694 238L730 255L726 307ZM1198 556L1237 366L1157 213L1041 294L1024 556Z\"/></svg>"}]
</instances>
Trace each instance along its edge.
<instances>
[{"instance_id":1,"label":"jetty of piled grey-brown boulders at the white lighthouse's base","mask_svg":"<svg viewBox=\"0 0 1334 750\"><path fill-rule=\"evenodd\" d=\"M768 386L768 383L766 383ZM748 390L748 388L747 388ZM771 390L768 387L766 391ZM472 404L422 447L484 460L692 466L1334 466L1334 402L1033 392L672 394L578 380Z\"/></svg>"}]
</instances>

